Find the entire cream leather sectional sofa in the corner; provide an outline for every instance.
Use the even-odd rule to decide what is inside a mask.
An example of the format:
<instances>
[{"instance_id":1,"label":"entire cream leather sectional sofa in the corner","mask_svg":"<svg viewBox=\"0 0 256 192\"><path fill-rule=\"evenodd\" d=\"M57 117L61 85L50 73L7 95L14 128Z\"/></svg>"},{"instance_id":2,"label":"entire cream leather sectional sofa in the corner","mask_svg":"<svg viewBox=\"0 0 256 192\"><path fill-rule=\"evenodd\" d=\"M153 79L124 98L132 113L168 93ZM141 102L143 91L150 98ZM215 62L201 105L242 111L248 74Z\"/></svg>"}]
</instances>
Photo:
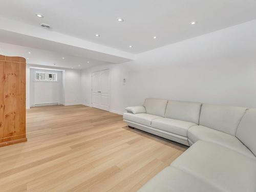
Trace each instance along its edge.
<instances>
[{"instance_id":1,"label":"entire cream leather sectional sofa in the corner","mask_svg":"<svg viewBox=\"0 0 256 192\"><path fill-rule=\"evenodd\" d=\"M256 192L256 109L148 98L125 110L129 126L190 146L140 192Z\"/></svg>"}]
</instances>

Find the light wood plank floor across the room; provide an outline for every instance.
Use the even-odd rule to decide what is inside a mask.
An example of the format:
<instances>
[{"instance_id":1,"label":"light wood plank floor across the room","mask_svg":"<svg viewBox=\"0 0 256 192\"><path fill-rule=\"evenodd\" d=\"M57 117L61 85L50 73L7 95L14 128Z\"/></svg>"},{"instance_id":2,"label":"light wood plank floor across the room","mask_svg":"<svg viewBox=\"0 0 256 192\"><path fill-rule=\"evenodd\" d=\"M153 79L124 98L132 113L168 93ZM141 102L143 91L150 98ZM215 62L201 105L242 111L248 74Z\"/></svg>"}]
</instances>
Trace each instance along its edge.
<instances>
[{"instance_id":1,"label":"light wood plank floor across the room","mask_svg":"<svg viewBox=\"0 0 256 192\"><path fill-rule=\"evenodd\" d=\"M0 191L137 191L187 148L83 105L27 110L27 137L0 148Z\"/></svg>"}]
</instances>

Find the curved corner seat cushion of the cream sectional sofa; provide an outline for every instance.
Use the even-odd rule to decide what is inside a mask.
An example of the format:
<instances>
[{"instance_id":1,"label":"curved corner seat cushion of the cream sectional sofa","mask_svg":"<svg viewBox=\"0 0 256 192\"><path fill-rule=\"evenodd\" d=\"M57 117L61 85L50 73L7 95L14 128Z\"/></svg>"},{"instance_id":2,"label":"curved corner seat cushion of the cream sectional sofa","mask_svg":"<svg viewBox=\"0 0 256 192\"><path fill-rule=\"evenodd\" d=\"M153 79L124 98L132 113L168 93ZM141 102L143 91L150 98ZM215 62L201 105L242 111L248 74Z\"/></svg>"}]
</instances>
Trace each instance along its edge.
<instances>
[{"instance_id":1,"label":"curved corner seat cushion of the cream sectional sofa","mask_svg":"<svg viewBox=\"0 0 256 192\"><path fill-rule=\"evenodd\" d=\"M192 126L188 129L187 135L193 143L198 140L209 141L228 147L248 157L255 157L238 138L206 126Z\"/></svg>"}]
</instances>

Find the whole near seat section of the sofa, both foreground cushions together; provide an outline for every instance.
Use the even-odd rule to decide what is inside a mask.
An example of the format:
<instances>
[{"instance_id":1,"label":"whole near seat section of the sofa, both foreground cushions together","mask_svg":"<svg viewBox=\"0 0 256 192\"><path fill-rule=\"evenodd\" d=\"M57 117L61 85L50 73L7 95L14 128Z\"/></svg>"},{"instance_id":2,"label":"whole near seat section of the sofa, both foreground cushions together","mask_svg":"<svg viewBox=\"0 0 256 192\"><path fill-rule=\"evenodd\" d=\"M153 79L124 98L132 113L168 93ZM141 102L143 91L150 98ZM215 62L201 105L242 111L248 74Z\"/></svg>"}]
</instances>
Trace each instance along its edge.
<instances>
[{"instance_id":1,"label":"whole near seat section of the sofa, both foreground cushions together","mask_svg":"<svg viewBox=\"0 0 256 192\"><path fill-rule=\"evenodd\" d=\"M256 160L216 143L197 141L138 192L254 192Z\"/></svg>"}]
</instances>

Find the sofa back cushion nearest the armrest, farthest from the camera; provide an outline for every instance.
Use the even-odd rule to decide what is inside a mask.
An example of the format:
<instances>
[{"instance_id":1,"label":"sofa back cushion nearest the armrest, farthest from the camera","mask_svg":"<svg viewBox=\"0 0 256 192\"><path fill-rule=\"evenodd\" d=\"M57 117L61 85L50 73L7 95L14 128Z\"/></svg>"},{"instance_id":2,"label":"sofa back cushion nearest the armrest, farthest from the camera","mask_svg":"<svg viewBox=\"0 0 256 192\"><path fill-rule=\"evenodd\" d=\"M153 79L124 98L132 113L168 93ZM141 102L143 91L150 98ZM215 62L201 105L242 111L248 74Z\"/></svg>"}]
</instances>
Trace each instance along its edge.
<instances>
[{"instance_id":1,"label":"sofa back cushion nearest the armrest, farthest from the camera","mask_svg":"<svg viewBox=\"0 0 256 192\"><path fill-rule=\"evenodd\" d=\"M167 99L147 98L143 105L147 114L164 117L167 101Z\"/></svg>"}]
</instances>

